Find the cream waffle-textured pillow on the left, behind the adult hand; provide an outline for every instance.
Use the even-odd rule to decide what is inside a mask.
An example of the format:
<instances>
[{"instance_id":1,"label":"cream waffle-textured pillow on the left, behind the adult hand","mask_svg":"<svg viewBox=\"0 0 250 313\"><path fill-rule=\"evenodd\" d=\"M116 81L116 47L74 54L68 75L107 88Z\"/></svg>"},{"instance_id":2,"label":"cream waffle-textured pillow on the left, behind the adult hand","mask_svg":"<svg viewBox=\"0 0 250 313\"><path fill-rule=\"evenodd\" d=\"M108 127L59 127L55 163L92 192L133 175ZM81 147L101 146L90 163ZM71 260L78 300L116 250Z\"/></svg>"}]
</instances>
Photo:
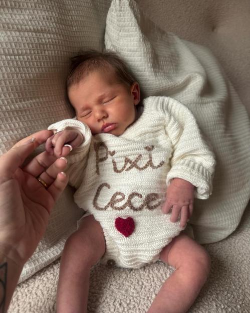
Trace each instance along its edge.
<instances>
[{"instance_id":1,"label":"cream waffle-textured pillow on the left, behind the adult hand","mask_svg":"<svg viewBox=\"0 0 250 313\"><path fill-rule=\"evenodd\" d=\"M103 49L110 0L12 0L0 10L0 152L52 122L73 116L65 101L69 57ZM66 190L21 280L61 253L82 215Z\"/></svg>"}]
</instances>

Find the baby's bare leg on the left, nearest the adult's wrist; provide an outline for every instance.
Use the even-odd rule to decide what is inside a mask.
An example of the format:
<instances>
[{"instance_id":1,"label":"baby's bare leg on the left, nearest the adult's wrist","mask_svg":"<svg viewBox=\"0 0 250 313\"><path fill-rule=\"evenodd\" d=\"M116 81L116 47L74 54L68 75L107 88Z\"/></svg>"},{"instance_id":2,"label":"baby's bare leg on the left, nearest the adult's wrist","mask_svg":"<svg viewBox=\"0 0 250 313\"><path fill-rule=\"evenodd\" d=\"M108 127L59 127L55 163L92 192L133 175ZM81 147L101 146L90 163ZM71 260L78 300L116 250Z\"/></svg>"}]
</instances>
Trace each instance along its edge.
<instances>
[{"instance_id":1,"label":"baby's bare leg on the left, nearest the adult's wrist","mask_svg":"<svg viewBox=\"0 0 250 313\"><path fill-rule=\"evenodd\" d=\"M105 252L105 239L94 217L83 219L66 241L57 290L58 313L87 312L90 269Z\"/></svg>"}]
</instances>

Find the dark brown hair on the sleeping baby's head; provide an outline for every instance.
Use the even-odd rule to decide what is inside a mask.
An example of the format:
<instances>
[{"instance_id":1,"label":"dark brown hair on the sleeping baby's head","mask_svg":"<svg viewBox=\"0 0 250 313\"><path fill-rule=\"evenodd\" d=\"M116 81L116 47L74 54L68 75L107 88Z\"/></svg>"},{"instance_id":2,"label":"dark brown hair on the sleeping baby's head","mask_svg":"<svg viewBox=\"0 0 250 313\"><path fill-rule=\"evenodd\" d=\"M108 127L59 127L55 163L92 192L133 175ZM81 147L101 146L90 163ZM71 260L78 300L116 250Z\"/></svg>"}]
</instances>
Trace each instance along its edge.
<instances>
[{"instance_id":1,"label":"dark brown hair on the sleeping baby's head","mask_svg":"<svg viewBox=\"0 0 250 313\"><path fill-rule=\"evenodd\" d=\"M115 70L117 79L120 80L121 83L131 86L135 82L125 62L114 52L98 52L95 50L81 51L79 55L70 60L71 67L66 80L67 90L70 86L79 83L94 70L100 68L105 69L109 67L109 65Z\"/></svg>"}]
</instances>

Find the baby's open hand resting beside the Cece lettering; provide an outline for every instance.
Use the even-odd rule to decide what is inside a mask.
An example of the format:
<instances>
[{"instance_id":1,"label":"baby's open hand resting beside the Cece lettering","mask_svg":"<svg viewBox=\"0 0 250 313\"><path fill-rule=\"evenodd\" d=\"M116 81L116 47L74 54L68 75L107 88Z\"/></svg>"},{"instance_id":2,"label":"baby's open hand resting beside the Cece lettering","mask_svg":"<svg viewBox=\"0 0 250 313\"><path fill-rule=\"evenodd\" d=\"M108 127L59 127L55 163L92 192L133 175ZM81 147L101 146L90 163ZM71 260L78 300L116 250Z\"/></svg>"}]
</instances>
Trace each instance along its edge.
<instances>
[{"instance_id":1,"label":"baby's open hand resting beside the Cece lettering","mask_svg":"<svg viewBox=\"0 0 250 313\"><path fill-rule=\"evenodd\" d=\"M184 227L193 212L194 186L180 178L174 178L167 188L162 212L172 210L170 221L176 222L180 215L180 226Z\"/></svg>"}]
</instances>

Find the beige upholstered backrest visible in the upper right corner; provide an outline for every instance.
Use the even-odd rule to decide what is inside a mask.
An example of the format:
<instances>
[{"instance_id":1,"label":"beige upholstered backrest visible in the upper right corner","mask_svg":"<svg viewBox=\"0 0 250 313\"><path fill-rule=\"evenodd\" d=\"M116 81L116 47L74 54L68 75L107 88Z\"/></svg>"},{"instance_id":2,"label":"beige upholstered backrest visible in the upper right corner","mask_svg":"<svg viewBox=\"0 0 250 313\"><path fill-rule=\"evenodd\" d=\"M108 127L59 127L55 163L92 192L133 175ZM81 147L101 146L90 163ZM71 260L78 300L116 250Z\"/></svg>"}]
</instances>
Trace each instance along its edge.
<instances>
[{"instance_id":1,"label":"beige upholstered backrest visible in the upper right corner","mask_svg":"<svg viewBox=\"0 0 250 313\"><path fill-rule=\"evenodd\" d=\"M250 1L136 0L164 31L208 47L250 116Z\"/></svg>"}]
</instances>

